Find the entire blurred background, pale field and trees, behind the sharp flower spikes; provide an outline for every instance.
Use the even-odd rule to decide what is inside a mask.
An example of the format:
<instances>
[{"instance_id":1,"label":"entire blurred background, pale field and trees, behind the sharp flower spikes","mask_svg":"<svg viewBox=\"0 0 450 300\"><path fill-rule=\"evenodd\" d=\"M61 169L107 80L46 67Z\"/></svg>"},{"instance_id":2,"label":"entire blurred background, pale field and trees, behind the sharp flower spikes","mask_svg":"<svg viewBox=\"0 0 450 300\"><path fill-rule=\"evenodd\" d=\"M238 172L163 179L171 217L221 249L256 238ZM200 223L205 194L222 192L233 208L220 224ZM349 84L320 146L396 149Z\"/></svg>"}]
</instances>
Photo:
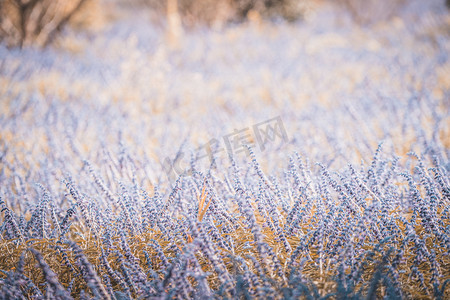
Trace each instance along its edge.
<instances>
[{"instance_id":1,"label":"entire blurred background, pale field and trees, behind the sharp flower spikes","mask_svg":"<svg viewBox=\"0 0 450 300\"><path fill-rule=\"evenodd\" d=\"M24 170L126 145L160 182L166 158L276 117L266 170L370 161L380 141L448 161L445 0L1 0L0 17L0 144Z\"/></svg>"}]
</instances>

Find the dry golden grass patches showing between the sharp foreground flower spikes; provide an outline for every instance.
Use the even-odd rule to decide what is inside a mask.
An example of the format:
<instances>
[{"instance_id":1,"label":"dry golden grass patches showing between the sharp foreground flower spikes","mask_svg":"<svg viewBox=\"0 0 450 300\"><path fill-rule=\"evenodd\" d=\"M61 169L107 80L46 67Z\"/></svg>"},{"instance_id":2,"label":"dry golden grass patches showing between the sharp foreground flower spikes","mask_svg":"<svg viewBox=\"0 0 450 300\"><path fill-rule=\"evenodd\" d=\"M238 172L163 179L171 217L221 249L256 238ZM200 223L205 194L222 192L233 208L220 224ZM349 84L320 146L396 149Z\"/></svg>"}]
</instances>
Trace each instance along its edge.
<instances>
[{"instance_id":1,"label":"dry golden grass patches showing between the sharp foreground flower spikes","mask_svg":"<svg viewBox=\"0 0 450 300\"><path fill-rule=\"evenodd\" d=\"M207 193L205 193L205 190L202 191L202 195L199 197L200 199L200 209L199 209L199 221L201 221L202 216L204 214L204 211L207 209L208 204L206 206L203 206L202 203L205 203L205 199L207 198ZM254 203L252 203L254 205ZM202 209L202 207L204 207ZM442 209L440 209L442 211ZM290 272L290 264L292 262L289 262L289 257L291 253L288 253L285 251L283 244L281 241L279 241L276 238L276 233L271 231L270 228L265 226L263 223L263 219L261 216L258 215L257 210L255 210L255 216L257 219L258 225L262 228L262 234L264 236L264 241L267 242L273 249L274 253L276 254L277 259L280 261L281 265L283 266L283 272L286 274L286 276L289 276ZM231 212L232 213L232 212ZM305 216L306 220L311 220L314 217L315 210L312 209L310 215ZM394 210L390 213L391 215L397 215L399 214L398 210ZM407 218L409 220L409 217ZM317 220L316 220L317 221ZM397 221L397 224L402 229L401 237L405 238L407 233L405 232L406 228L404 224L401 221ZM420 225L420 218L418 219L418 224L416 226L415 233L420 238L425 238L427 235L429 236L429 233L424 230L422 225ZM244 258L244 260L247 263L247 266L249 269L254 272L255 274L258 274L258 270L254 268L254 265L250 259L247 257L253 256L257 258L258 260L262 259L260 255L258 254L258 250L256 248L256 245L253 243L253 234L250 231L250 229L246 228L246 226L241 223L239 220L237 221L236 230L232 233L230 233L230 236L232 237L234 249L232 252L220 248L218 249L218 253L223 257L223 260L227 266L227 269L229 272L234 272L234 263L231 259L231 256L239 256ZM309 230L313 229L315 226L314 223L303 222L301 225L301 231L308 232ZM446 223L443 224L443 226L450 226L450 221L447 219ZM80 235L80 232L86 232L84 228L80 228L77 225L73 225L71 227L71 230L69 232L69 238L70 240L77 243L77 245L82 249L84 255L88 258L89 262L94 266L95 271L101 276L107 274L106 270L102 267L99 267L101 264L101 256L102 256L102 248L105 248L105 245L102 244L102 241L97 239L92 233L89 231L86 232L83 235ZM225 237L225 235L224 235ZM292 249L295 249L298 243L300 242L300 239L302 239L301 235L296 235L292 237L288 237L287 240L291 246ZM144 231L141 234L129 237L127 239L131 253L139 259L139 265L143 270L148 269L146 257L144 255L143 251L147 251L150 256L152 257L152 265L155 269L155 271L158 274L162 274L164 270L162 270L159 265L160 260L157 258L157 252L149 246L149 243L151 240L155 240L158 242L158 244L162 247L164 254L167 258L173 258L175 257L176 253L171 250L172 248L170 246L170 241L166 240L164 235L156 230L149 228L148 230ZM112 237L111 238L112 245L111 248L121 249L120 252L122 255L125 255L125 252L120 246L121 239L120 237ZM192 243L192 237L188 235L187 240L180 240L177 243L178 249L183 252L183 249L189 244ZM357 240L354 240L354 245L357 244ZM402 242L402 239L393 240L387 244L385 244L380 250L387 251L389 247L392 245L400 245ZM252 245L251 247L248 247L248 243ZM24 253L25 255L25 269L24 269L24 275L26 275L28 278L30 278L36 286L41 286L45 282L45 279L43 277L42 271L39 268L36 268L35 264L35 258L31 254L31 252L27 251L28 248L32 247L33 249L38 250L42 253L45 261L47 264L51 267L51 269L58 275L59 281L63 284L64 287L68 287L69 283L74 280L73 282L73 289L72 289L72 295L76 298L77 295L79 295L79 292L83 289L86 290L86 282L82 278L74 278L73 274L74 272L71 271L70 267L66 265L64 262L63 256L59 251L55 249L55 246L59 245L63 248L68 248L68 246L64 243L58 242L56 239L29 239L26 243L21 243L18 240L2 240L0 242L0 269L4 271L9 270L15 270L17 267L19 257ZM440 246L439 243L437 243L435 237L429 236L426 238L426 245L429 249L433 249L436 253L436 260L439 262L441 266L441 272L443 277L440 278L441 282L444 282L447 279L450 279L450 257L446 255L447 250L444 246ZM247 247L246 247L247 246ZM362 277L364 280L361 284L359 284L356 288L359 288L362 284L365 284L367 282L370 282L375 269L377 268L377 265L379 264L379 261L383 258L380 254L381 252L375 252L372 259L370 261L365 260L365 256L367 255L368 251L374 250L374 244L365 243L364 246L360 249L360 251L365 251L365 254L363 254L362 257L358 258L361 261L365 261L366 266L364 267L364 272L362 274ZM398 265L397 271L399 274L399 282L402 286L402 291L405 293L405 295L408 295L408 297L412 297L413 299L429 299L430 298L430 292L433 290L433 286L431 284L431 278L432 278L432 266L428 262L424 262L420 265L420 271L424 275L425 279L425 288L418 288L417 282L410 278L409 274L411 273L410 267L413 265L413 260L415 259L415 251L414 251L415 245L413 242L407 243L407 245L404 248L404 259L401 264ZM361 252L362 253L362 252ZM65 254L67 255L68 262L74 267L77 268L75 263L75 257L72 251L65 251ZM214 269L212 268L211 262L204 257L200 252L197 252L196 254L198 261L201 263L202 269L205 272L210 272L211 274L208 276L208 281L213 288L218 288L220 285L220 281L218 279L218 274L215 273ZM337 276L337 266L331 262L329 259L325 259L323 261L323 268L319 268L317 265L315 265L315 261L318 260L317 255L317 249L310 248L309 257L311 259L308 259L306 263L303 265L303 274L310 278L311 281L317 286L317 288L320 290L320 293L322 295L332 293L336 291L336 281L335 277ZM297 262L300 262L305 256L300 255L297 258ZM113 270L120 271L120 264L117 261L117 257L114 254L110 254L108 256L108 262ZM393 259L393 256L391 256L389 259ZM286 286L286 283L283 282L283 279L280 278L273 269L273 266L271 265L264 265L264 262L262 262L262 266L264 269L268 272L265 274L268 278L274 280L275 282L278 282L280 286ZM4 275L1 275L4 277ZM161 275L162 276L162 275ZM121 287L119 283L112 282L114 290L121 290ZM381 297L383 295L382 289L378 291L379 296ZM446 289L446 295L447 297L450 296L450 288L447 287Z\"/></svg>"}]
</instances>

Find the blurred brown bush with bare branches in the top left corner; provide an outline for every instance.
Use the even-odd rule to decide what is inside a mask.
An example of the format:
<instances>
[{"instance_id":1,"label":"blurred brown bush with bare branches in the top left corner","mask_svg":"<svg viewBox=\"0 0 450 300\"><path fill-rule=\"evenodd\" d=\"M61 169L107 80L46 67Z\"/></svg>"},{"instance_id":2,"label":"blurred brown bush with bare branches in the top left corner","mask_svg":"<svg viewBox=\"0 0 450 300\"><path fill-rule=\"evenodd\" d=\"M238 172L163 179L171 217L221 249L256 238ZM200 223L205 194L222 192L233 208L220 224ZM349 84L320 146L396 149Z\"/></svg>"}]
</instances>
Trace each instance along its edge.
<instances>
[{"instance_id":1,"label":"blurred brown bush with bare branches in the top left corner","mask_svg":"<svg viewBox=\"0 0 450 300\"><path fill-rule=\"evenodd\" d=\"M0 0L0 40L9 46L46 46L86 2L87 0Z\"/></svg>"}]
</instances>

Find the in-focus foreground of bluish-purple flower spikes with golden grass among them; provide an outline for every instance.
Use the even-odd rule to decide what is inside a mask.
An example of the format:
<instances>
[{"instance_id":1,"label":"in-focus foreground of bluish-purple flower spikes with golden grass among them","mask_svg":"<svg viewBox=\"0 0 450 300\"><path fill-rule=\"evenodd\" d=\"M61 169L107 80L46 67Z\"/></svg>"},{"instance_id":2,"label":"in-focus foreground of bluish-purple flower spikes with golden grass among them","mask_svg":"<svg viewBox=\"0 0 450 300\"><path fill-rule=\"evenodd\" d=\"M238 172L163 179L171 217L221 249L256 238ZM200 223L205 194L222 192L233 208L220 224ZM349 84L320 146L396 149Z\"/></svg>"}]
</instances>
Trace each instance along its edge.
<instances>
[{"instance_id":1,"label":"in-focus foreground of bluish-purple flower spikes with golden grass among them","mask_svg":"<svg viewBox=\"0 0 450 300\"><path fill-rule=\"evenodd\" d=\"M257 172L244 179L231 168L234 190L196 172L167 200L137 181L113 192L89 164L103 192L88 196L66 177L66 211L40 185L29 217L1 201L0 295L447 298L446 171L411 153L409 173L380 149L365 171L349 165L335 176L321 164L312 173L295 155L280 183L251 151Z\"/></svg>"}]
</instances>

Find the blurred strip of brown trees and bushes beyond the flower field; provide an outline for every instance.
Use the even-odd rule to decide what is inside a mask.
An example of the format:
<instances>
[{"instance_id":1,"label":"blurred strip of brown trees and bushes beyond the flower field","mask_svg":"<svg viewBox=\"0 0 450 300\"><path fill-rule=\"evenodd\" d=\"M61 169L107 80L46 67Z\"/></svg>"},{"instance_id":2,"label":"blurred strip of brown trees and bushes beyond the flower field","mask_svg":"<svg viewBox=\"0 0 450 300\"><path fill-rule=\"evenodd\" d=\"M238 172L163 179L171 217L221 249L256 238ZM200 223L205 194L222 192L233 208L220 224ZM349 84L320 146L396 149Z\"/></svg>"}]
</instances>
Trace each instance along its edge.
<instances>
[{"instance_id":1,"label":"blurred strip of brown trees and bushes beyond the flower field","mask_svg":"<svg viewBox=\"0 0 450 300\"><path fill-rule=\"evenodd\" d=\"M333 7L367 26L404 14L413 2L417 15L450 5L444 0L2 0L0 39L9 46L46 46L67 28L95 31L140 13L155 27L179 31L176 27L218 29L247 20L295 22Z\"/></svg>"}]
</instances>

